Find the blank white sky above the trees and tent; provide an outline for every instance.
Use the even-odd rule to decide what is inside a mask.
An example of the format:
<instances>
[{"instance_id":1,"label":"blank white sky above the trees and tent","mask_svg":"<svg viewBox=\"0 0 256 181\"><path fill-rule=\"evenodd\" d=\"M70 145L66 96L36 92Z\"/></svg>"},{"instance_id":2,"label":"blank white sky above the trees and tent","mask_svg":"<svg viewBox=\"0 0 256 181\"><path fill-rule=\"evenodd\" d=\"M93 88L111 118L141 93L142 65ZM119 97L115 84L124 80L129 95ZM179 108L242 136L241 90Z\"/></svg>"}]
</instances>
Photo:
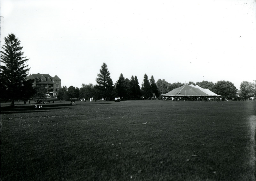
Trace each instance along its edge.
<instances>
[{"instance_id":1,"label":"blank white sky above the trees and tent","mask_svg":"<svg viewBox=\"0 0 256 181\"><path fill-rule=\"evenodd\" d=\"M168 83L256 80L256 1L1 0L1 45L14 33L29 74L61 86L144 74Z\"/></svg>"}]
</instances>

